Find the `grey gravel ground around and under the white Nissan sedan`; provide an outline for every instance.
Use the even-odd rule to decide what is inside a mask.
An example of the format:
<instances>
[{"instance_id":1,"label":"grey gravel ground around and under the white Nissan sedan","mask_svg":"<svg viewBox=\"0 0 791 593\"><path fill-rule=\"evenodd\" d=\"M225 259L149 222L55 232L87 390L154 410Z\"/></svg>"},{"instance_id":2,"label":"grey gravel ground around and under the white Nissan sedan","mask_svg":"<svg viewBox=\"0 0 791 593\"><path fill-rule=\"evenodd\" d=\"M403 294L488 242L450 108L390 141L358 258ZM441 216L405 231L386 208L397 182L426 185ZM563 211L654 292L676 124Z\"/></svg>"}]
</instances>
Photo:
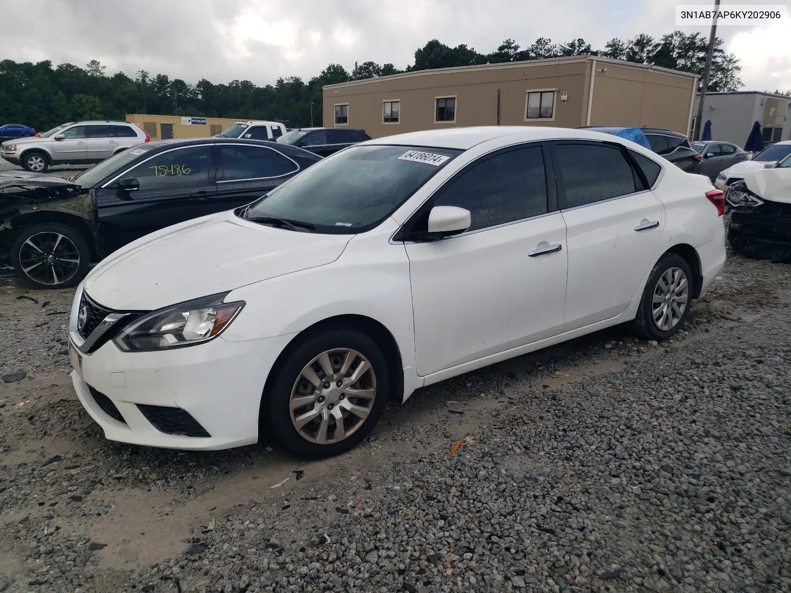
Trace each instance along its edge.
<instances>
[{"instance_id":1,"label":"grey gravel ground around and under the white Nissan sedan","mask_svg":"<svg viewBox=\"0 0 791 593\"><path fill-rule=\"evenodd\" d=\"M791 266L731 256L675 340L438 383L311 463L104 440L69 302L0 285L0 591L791 591Z\"/></svg>"}]
</instances>

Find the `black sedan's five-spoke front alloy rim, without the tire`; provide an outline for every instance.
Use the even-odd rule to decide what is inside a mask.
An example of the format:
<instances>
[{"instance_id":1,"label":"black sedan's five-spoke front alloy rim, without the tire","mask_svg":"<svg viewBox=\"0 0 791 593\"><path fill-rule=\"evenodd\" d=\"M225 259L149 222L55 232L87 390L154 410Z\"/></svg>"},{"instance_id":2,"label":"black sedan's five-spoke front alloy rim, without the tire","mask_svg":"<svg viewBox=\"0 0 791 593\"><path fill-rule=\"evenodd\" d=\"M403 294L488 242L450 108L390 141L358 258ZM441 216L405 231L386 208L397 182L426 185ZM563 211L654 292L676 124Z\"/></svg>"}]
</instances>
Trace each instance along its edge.
<instances>
[{"instance_id":1,"label":"black sedan's five-spoke front alloy rim, without the tire","mask_svg":"<svg viewBox=\"0 0 791 593\"><path fill-rule=\"evenodd\" d=\"M19 264L28 278L44 285L70 281L80 268L80 252L66 235L36 232L19 248Z\"/></svg>"}]
</instances>

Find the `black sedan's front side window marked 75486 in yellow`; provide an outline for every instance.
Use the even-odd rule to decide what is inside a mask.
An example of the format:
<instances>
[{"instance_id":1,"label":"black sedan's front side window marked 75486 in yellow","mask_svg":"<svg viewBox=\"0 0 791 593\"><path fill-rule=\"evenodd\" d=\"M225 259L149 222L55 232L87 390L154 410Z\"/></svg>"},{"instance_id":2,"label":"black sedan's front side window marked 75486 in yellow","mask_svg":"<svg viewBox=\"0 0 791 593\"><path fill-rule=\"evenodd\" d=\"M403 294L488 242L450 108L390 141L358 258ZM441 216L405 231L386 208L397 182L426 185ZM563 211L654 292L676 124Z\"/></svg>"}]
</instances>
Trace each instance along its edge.
<instances>
[{"instance_id":1,"label":"black sedan's front side window marked 75486 in yellow","mask_svg":"<svg viewBox=\"0 0 791 593\"><path fill-rule=\"evenodd\" d=\"M206 185L209 183L209 145L157 154L123 177L138 179L142 191Z\"/></svg>"}]
</instances>

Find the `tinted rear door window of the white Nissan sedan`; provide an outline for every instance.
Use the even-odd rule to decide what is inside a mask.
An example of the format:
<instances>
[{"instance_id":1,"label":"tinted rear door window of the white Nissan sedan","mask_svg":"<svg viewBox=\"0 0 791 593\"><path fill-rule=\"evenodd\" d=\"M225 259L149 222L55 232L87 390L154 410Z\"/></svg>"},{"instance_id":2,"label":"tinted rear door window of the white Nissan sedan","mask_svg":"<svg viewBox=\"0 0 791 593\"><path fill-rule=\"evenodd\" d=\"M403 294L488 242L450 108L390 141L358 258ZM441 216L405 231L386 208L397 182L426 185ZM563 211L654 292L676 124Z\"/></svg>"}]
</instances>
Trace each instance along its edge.
<instances>
[{"instance_id":1,"label":"tinted rear door window of the white Nissan sedan","mask_svg":"<svg viewBox=\"0 0 791 593\"><path fill-rule=\"evenodd\" d=\"M566 208L642 190L631 164L615 146L558 143L554 151L566 190Z\"/></svg>"}]
</instances>

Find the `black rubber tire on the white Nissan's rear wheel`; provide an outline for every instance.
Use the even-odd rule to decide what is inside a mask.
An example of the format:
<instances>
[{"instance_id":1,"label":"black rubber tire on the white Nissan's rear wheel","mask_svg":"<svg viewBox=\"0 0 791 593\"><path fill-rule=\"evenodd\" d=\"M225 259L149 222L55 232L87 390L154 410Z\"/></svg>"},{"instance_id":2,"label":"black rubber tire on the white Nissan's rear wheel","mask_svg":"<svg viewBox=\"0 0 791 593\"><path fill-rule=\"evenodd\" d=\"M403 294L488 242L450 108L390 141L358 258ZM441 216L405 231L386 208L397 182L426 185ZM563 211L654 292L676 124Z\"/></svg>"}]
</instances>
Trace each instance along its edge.
<instances>
[{"instance_id":1,"label":"black rubber tire on the white Nissan's rear wheel","mask_svg":"<svg viewBox=\"0 0 791 593\"><path fill-rule=\"evenodd\" d=\"M663 281L663 285L660 285L660 280L662 280L663 276L670 270L680 270L685 277L686 300L683 303L683 308L681 304L679 304L679 296L676 297L677 300L672 300L673 297L671 296L669 300L657 302L657 308L655 308L654 296L657 296L657 298L661 296L660 293L662 293L662 286L665 282ZM672 274L671 272L671 275ZM692 271L686 259L683 259L683 257L675 253L666 253L662 255L657 264L653 266L648 281L645 282L645 289L640 299L638 313L634 320L626 324L626 327L638 338L644 340L657 340L658 342L670 338L683 327L684 321L686 321L687 315L689 315L690 306L692 304L693 285L694 280ZM671 291L671 293L672 292L673 291ZM662 311L664 311L662 309L663 304L665 305L664 310L668 310L669 308L668 315L670 315L671 319L662 323L662 327L660 327L660 322L664 322L664 319L666 319L662 316ZM673 304L676 305L675 309L673 308ZM677 318L675 316L676 310L681 310L681 315ZM654 315L660 315L659 322L654 319Z\"/></svg>"}]
</instances>

